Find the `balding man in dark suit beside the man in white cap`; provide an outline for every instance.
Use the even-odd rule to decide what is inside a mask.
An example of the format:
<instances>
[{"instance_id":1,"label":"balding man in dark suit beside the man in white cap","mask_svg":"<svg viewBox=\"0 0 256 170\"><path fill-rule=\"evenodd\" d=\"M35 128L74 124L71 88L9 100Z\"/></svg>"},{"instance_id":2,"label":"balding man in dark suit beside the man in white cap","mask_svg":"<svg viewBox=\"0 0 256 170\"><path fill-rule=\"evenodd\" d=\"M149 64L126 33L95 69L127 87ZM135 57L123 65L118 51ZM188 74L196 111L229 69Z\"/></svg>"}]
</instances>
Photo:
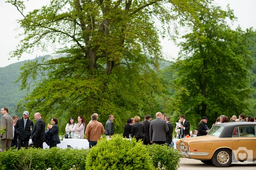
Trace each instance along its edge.
<instances>
[{"instance_id":1,"label":"balding man in dark suit beside the man in white cap","mask_svg":"<svg viewBox=\"0 0 256 170\"><path fill-rule=\"evenodd\" d=\"M45 123L39 112L35 113L36 123L31 131L31 139L35 148L43 148Z\"/></svg>"}]
</instances>

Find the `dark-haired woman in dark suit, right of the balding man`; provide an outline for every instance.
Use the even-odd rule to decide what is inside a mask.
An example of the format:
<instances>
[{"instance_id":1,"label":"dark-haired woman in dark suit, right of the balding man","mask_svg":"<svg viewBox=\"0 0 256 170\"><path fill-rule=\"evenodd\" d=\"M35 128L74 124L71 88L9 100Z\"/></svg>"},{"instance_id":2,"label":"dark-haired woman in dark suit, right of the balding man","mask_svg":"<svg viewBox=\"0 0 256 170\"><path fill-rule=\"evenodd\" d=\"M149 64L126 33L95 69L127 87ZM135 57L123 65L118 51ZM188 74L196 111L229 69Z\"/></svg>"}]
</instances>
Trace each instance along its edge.
<instances>
[{"instance_id":1,"label":"dark-haired woman in dark suit, right of the balding man","mask_svg":"<svg viewBox=\"0 0 256 170\"><path fill-rule=\"evenodd\" d=\"M49 148L57 147L57 144L60 141L60 139L59 139L59 126L57 125L58 124L58 119L53 117L51 119L51 124L52 124L52 128L48 127L49 136L50 136L50 146L49 146Z\"/></svg>"}]
</instances>

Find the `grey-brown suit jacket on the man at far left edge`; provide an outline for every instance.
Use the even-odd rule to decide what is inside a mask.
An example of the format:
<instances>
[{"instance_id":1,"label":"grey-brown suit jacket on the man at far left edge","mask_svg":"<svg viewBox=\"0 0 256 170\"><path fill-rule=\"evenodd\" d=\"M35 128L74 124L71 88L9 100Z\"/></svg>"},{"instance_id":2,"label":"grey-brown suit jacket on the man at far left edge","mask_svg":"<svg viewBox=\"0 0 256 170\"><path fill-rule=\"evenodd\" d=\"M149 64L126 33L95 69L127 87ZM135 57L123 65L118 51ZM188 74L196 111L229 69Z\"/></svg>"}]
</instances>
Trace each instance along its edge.
<instances>
[{"instance_id":1,"label":"grey-brown suit jacket on the man at far left edge","mask_svg":"<svg viewBox=\"0 0 256 170\"><path fill-rule=\"evenodd\" d=\"M5 114L1 118L0 125L1 125L0 128L5 130L5 132L0 135L0 139L13 139L13 131L12 131L13 121L12 121L12 117L8 114Z\"/></svg>"}]
</instances>

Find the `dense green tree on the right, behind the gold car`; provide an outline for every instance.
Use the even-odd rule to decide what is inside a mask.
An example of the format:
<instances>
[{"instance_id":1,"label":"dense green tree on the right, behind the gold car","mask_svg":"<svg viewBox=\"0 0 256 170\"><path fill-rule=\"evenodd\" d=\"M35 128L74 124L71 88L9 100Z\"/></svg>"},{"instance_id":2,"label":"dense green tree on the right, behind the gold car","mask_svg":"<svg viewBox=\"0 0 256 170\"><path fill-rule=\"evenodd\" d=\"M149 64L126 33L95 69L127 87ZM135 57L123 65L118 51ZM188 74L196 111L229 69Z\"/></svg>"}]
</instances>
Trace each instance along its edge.
<instances>
[{"instance_id":1,"label":"dense green tree on the right, behind the gold car","mask_svg":"<svg viewBox=\"0 0 256 170\"><path fill-rule=\"evenodd\" d=\"M226 20L236 18L229 8L205 7L198 18L193 31L183 36L180 58L173 65L179 74L174 83L180 87L176 91L180 112L194 124L202 116L211 124L220 115L248 113L252 30L232 30Z\"/></svg>"}]
</instances>

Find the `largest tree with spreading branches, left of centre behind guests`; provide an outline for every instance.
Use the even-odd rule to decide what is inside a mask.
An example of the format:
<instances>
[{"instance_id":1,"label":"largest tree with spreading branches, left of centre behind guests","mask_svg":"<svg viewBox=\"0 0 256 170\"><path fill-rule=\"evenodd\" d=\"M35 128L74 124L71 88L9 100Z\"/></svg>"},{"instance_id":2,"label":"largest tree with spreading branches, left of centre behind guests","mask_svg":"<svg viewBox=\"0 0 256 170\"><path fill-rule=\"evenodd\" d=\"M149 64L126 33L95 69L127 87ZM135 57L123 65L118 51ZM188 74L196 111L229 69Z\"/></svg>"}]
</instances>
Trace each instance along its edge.
<instances>
[{"instance_id":1,"label":"largest tree with spreading branches, left of centre behind guests","mask_svg":"<svg viewBox=\"0 0 256 170\"><path fill-rule=\"evenodd\" d=\"M28 14L23 1L8 2L22 14L18 22L24 29L12 57L49 46L67 54L21 68L21 89L41 76L22 106L44 116L83 115L87 122L93 112L101 122L113 114L121 132L128 117L159 111L156 96L168 100L166 84L156 76L159 37L174 20L180 25L197 21L196 13L212 0L51 0Z\"/></svg>"}]
</instances>

